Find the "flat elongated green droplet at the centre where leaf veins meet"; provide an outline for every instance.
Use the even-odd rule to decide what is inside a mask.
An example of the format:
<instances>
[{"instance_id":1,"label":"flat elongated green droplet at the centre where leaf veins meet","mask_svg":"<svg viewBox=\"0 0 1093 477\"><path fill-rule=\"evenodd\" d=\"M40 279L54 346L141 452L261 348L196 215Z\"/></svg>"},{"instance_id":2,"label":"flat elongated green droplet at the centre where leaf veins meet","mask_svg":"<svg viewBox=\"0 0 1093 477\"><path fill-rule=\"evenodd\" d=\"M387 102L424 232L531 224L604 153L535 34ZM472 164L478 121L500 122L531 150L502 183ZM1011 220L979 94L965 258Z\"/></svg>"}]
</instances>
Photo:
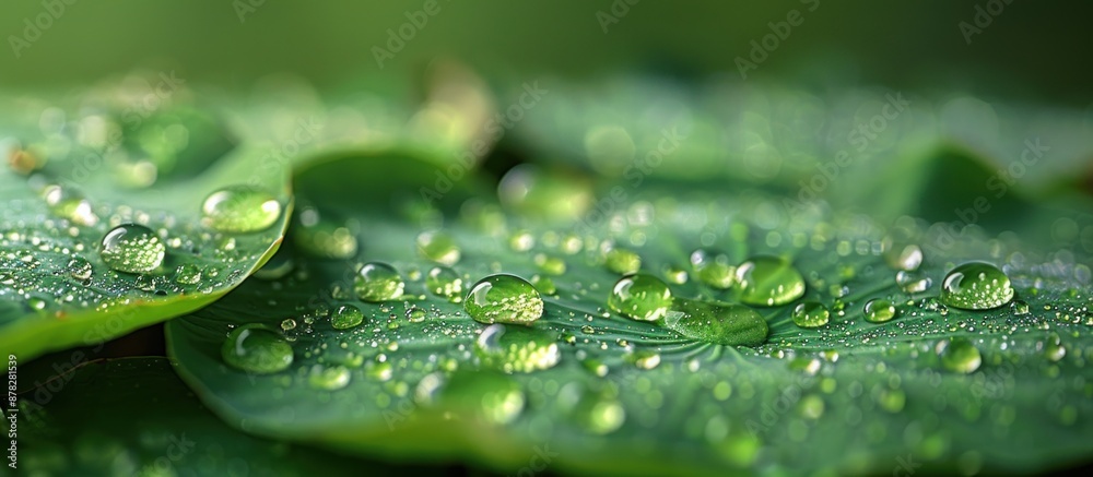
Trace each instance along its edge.
<instances>
[{"instance_id":1,"label":"flat elongated green droplet at the centre where leaf veins meet","mask_svg":"<svg viewBox=\"0 0 1093 477\"><path fill-rule=\"evenodd\" d=\"M675 298L665 325L683 336L725 346L759 346L769 327L743 305Z\"/></svg>"}]
</instances>

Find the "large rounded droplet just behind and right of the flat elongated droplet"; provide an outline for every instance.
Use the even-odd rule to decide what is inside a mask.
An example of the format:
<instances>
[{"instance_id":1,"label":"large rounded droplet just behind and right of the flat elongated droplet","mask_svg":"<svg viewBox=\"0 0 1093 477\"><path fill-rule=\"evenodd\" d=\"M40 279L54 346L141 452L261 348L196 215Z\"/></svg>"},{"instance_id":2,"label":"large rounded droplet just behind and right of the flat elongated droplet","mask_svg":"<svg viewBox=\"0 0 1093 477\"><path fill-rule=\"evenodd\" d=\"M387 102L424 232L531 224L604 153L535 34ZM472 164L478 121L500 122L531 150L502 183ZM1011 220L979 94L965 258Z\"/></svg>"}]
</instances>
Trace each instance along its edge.
<instances>
[{"instance_id":1,"label":"large rounded droplet just behind and right of the flat elongated droplet","mask_svg":"<svg viewBox=\"0 0 1093 477\"><path fill-rule=\"evenodd\" d=\"M804 277L777 257L756 257L737 269L740 301L747 305L786 305L804 295Z\"/></svg>"}]
</instances>

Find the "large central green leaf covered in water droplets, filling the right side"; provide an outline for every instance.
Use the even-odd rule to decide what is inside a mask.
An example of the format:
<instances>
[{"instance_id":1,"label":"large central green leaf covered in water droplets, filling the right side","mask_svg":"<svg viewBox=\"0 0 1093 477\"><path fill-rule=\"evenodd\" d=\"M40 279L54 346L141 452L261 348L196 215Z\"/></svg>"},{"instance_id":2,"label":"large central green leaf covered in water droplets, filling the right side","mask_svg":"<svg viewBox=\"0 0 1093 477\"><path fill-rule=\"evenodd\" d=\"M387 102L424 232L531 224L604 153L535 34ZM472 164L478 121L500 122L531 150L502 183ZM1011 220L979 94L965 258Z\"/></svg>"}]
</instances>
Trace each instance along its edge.
<instances>
[{"instance_id":1,"label":"large central green leaf covered in water droplets, filling the right side","mask_svg":"<svg viewBox=\"0 0 1093 477\"><path fill-rule=\"evenodd\" d=\"M1036 472L1093 450L1083 438L1093 431L1090 269L1070 250L1043 253L1013 235L953 237L909 218L882 227L822 203L787 210L778 195L679 183L608 184L580 220L514 216L490 196L436 191L446 177L384 154L298 172L306 205L266 279L167 323L184 380L222 418L258 434L507 472ZM556 186L506 178L503 199L516 190L506 203L545 201L524 211L568 210L563 201L590 193L579 184L534 190L541 183ZM921 265L914 253L901 260L908 245L926 251ZM762 294L710 286L721 282L716 270L689 263L698 248L722 251L726 269L775 255L801 273L803 297L751 307L769 327L764 344L717 344L713 321L732 329L720 319L740 309L713 300ZM620 272L638 265L622 250L639 257L643 272L672 278L675 305L662 321L679 323L610 311ZM1004 270L1021 301L986 311L940 303L947 272L968 260ZM374 261L399 272L404 295L357 299L354 276ZM543 317L530 326L472 320L431 290L437 261L454 263L457 297L495 273L531 279ZM791 271L772 276L752 278L791 288ZM866 321L872 299L890 300L897 317ZM824 303L830 323L797 326L801 300ZM346 305L363 312L362 324L341 326ZM274 342L283 334L284 343L259 347L271 353L262 368L225 362L238 353L234 341L225 347L228 332L245 324L268 327Z\"/></svg>"}]
</instances>

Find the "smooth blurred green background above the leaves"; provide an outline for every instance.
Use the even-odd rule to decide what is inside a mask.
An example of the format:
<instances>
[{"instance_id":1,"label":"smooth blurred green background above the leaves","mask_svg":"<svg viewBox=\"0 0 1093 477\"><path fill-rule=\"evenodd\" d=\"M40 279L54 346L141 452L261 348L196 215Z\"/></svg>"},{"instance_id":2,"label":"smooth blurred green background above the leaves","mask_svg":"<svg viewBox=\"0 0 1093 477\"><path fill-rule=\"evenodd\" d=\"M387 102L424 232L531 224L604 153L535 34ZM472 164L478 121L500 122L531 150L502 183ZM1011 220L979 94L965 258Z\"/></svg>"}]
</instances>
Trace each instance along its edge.
<instances>
[{"instance_id":1,"label":"smooth blurred green background above the leaves","mask_svg":"<svg viewBox=\"0 0 1093 477\"><path fill-rule=\"evenodd\" d=\"M1093 5L1086 2L438 0L439 12L380 70L372 48L383 47L387 29L424 1L55 1L63 12L17 58L13 38L27 38L25 22L58 8L47 7L49 0L5 3L0 87L79 85L151 67L227 87L292 72L324 90L346 88L368 74L414 77L438 56L486 75L579 80L620 69L736 75L734 60L748 56L750 41L798 9L804 22L749 81L960 90L1081 109L1093 102L1085 74ZM815 11L808 11L813 3ZM597 12L612 5L624 13L604 33ZM975 25L977 5L1002 11L967 44L959 24Z\"/></svg>"}]
</instances>

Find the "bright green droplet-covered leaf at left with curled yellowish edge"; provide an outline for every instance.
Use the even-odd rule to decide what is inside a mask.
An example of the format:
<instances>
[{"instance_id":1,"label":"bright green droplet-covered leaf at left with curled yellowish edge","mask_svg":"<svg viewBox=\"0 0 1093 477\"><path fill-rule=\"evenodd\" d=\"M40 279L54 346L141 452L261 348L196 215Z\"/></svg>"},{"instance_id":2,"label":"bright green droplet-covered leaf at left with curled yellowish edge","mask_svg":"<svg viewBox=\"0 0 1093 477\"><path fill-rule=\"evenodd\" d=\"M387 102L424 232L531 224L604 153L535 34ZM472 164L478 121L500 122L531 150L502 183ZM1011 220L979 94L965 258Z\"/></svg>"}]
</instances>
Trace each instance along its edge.
<instances>
[{"instance_id":1,"label":"bright green droplet-covered leaf at left with curled yellowish edge","mask_svg":"<svg viewBox=\"0 0 1093 477\"><path fill-rule=\"evenodd\" d=\"M265 160L272 145L235 145L208 112L79 111L49 107L37 128L0 130L11 165L0 170L0 348L20 359L98 344L215 300L277 250L292 207L287 167ZM221 202L228 212L265 211L260 229L205 220L204 199L227 187L267 198ZM155 237L142 242L141 266L104 261L104 238L122 224Z\"/></svg>"}]
</instances>

